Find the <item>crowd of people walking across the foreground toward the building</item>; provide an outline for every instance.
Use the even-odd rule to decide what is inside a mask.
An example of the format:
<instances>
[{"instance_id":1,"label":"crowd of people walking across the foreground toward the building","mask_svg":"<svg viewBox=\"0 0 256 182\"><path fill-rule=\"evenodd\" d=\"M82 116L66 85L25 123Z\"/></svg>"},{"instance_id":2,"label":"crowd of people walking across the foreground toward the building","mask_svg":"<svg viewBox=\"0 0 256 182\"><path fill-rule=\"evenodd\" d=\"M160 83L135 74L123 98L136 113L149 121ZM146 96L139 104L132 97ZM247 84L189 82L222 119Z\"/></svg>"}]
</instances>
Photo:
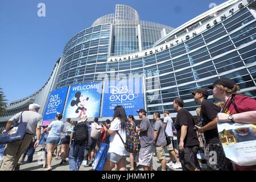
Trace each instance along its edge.
<instances>
[{"instance_id":1,"label":"crowd of people walking across the foreground toward the building","mask_svg":"<svg viewBox=\"0 0 256 182\"><path fill-rule=\"evenodd\" d=\"M238 166L227 159L219 139L217 122L238 122L256 124L256 101L248 96L238 94L239 86L233 80L220 78L209 87L213 90L213 97L218 102L211 102L207 98L207 89L194 90L191 98L200 107L197 108L197 119L183 108L182 98L173 101L174 110L177 111L175 122L169 116L169 111L153 114L154 125L147 118L145 109L137 110L141 119L140 125L133 115L126 115L122 106L114 109L112 121L107 119L99 123L98 118L89 122L87 115L83 114L79 121L61 121L62 114L57 113L55 120L42 128L42 116L38 114L41 106L31 104L28 111L23 111L12 117L6 125L6 131L23 117L27 121L26 134L23 140L6 144L1 170L18 170L24 163L33 162L33 154L41 139L45 151L46 171L50 171L51 160L54 158L69 163L70 171L78 171L83 161L88 162L85 167L92 165L101 143L108 143L105 166L103 170L126 171L126 158L130 159L130 171L143 167L145 171L153 169L153 153L161 163L161 170L167 168L182 168L183 171L201 170L201 161L198 152L205 153L207 170L253 170L256 166ZM139 134L140 148L138 153L130 153L125 148L126 126L129 125ZM174 137L177 136L177 141ZM56 150L56 154L54 151ZM170 160L167 162L165 150L169 152ZM87 151L87 152L85 152ZM212 161L212 154L217 154L216 161Z\"/></svg>"}]
</instances>

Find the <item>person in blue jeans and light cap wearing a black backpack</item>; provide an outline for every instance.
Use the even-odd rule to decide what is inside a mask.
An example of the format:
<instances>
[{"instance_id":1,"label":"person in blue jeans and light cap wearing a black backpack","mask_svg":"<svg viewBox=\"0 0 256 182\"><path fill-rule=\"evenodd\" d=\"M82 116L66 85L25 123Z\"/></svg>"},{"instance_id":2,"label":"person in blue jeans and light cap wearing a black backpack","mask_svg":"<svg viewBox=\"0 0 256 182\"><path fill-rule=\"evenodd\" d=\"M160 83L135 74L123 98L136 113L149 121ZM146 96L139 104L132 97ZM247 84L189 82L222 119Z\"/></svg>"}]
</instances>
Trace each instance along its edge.
<instances>
[{"instance_id":1,"label":"person in blue jeans and light cap wearing a black backpack","mask_svg":"<svg viewBox=\"0 0 256 182\"><path fill-rule=\"evenodd\" d=\"M88 140L87 115L83 114L70 137L69 169L79 171Z\"/></svg>"}]
</instances>

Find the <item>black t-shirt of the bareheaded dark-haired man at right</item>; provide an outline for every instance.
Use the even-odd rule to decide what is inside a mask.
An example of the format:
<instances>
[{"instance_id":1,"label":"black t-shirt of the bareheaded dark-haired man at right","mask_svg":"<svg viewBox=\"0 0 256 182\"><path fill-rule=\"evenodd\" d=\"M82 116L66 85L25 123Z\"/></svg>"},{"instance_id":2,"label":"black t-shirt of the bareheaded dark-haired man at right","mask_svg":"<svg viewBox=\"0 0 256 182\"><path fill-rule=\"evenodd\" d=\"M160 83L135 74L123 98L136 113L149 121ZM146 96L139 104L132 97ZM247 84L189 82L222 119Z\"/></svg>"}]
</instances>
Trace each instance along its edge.
<instances>
[{"instance_id":1,"label":"black t-shirt of the bareheaded dark-haired man at right","mask_svg":"<svg viewBox=\"0 0 256 182\"><path fill-rule=\"evenodd\" d=\"M184 139L184 146L197 146L199 145L197 132L193 130L195 122L193 116L186 109L180 109L178 111L175 127L177 130L178 143L181 138L181 126L187 125L187 135Z\"/></svg>"}]
</instances>

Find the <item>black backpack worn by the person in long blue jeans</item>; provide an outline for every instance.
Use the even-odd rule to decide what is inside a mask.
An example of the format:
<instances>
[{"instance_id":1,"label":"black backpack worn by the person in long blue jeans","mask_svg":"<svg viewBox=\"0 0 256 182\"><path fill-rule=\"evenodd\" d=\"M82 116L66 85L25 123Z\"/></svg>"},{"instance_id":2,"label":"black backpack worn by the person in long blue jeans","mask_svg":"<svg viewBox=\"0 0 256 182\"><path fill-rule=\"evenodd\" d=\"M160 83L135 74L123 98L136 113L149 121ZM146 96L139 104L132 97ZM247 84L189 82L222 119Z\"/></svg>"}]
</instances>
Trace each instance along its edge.
<instances>
[{"instance_id":1,"label":"black backpack worn by the person in long blue jeans","mask_svg":"<svg viewBox=\"0 0 256 182\"><path fill-rule=\"evenodd\" d=\"M74 142L78 144L86 143L88 140L88 126L86 122L77 123L74 127Z\"/></svg>"}]
</instances>

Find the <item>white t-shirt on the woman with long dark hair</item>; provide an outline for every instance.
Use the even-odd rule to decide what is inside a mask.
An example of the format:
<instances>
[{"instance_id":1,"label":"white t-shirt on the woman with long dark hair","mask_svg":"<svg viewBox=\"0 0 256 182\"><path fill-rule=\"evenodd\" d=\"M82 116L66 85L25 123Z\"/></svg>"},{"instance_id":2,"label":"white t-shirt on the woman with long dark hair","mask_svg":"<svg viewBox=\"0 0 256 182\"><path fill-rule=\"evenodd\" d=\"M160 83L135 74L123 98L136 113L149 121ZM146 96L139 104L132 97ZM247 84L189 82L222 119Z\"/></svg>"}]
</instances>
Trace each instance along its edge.
<instances>
[{"instance_id":1,"label":"white t-shirt on the woman with long dark hair","mask_svg":"<svg viewBox=\"0 0 256 182\"><path fill-rule=\"evenodd\" d=\"M123 142L126 142L125 129L121 129L121 121L119 119L114 119L111 124L109 130L118 131L121 135ZM109 143L109 153L113 152L118 155L129 155L129 152L125 150L125 146L117 133L110 135L110 143Z\"/></svg>"}]
</instances>

